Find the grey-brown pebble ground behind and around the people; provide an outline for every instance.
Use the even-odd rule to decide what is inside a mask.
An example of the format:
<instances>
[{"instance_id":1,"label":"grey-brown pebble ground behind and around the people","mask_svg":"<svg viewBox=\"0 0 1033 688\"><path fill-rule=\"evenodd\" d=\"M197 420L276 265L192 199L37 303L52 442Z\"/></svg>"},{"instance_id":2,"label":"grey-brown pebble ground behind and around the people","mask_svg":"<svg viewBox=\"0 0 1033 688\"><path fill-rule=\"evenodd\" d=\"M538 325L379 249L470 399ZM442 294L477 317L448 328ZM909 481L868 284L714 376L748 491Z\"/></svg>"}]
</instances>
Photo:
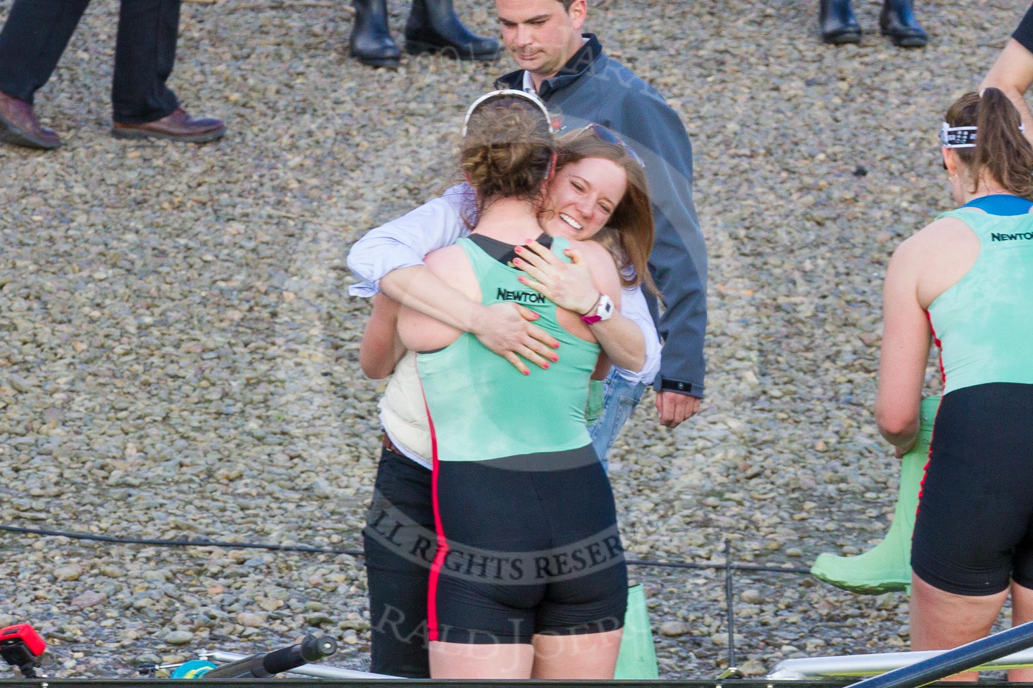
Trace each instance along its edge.
<instances>
[{"instance_id":1,"label":"grey-brown pebble ground behind and around the people","mask_svg":"<svg viewBox=\"0 0 1033 688\"><path fill-rule=\"evenodd\" d=\"M194 146L108 136L117 3L94 2L38 94L66 148L0 146L0 522L359 546L382 387L358 369L368 304L346 296L344 257L442 188L465 105L510 64L361 67L346 4L185 4L173 86L229 124ZM649 395L625 429L625 543L721 562L728 537L741 560L793 566L863 551L897 481L871 415L887 256L948 207L941 113L1028 3L922 0L933 39L916 52L876 32L823 46L810 1L594 4L589 28L684 117L711 255L705 409L670 432ZM459 5L495 30L488 3ZM876 26L877 2L855 9ZM713 676L722 575L632 574L663 628L661 674ZM35 623L52 676L129 677L313 629L343 641L337 663L367 664L365 574L346 555L3 533L0 580L0 626ZM903 595L781 574L737 587L748 673L908 641Z\"/></svg>"}]
</instances>

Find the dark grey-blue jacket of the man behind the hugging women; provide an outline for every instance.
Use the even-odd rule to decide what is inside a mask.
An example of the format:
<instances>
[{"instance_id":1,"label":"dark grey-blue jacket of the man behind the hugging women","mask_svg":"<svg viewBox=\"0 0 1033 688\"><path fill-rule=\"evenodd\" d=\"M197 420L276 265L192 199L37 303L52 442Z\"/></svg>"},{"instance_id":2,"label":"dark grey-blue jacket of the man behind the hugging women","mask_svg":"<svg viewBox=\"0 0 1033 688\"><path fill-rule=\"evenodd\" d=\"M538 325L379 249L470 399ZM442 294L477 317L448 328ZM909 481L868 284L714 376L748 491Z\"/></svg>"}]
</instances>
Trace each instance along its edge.
<instances>
[{"instance_id":1,"label":"dark grey-blue jacket of the man behind the hugging women","mask_svg":"<svg viewBox=\"0 0 1033 688\"><path fill-rule=\"evenodd\" d=\"M685 126L663 97L627 67L602 52L595 34L538 95L561 116L563 131L590 122L621 135L646 162L656 240L650 270L663 294L658 316L663 338L657 390L703 394L703 334L707 329L707 247L692 204L692 144ZM522 89L524 71L501 77L497 88Z\"/></svg>"}]
</instances>

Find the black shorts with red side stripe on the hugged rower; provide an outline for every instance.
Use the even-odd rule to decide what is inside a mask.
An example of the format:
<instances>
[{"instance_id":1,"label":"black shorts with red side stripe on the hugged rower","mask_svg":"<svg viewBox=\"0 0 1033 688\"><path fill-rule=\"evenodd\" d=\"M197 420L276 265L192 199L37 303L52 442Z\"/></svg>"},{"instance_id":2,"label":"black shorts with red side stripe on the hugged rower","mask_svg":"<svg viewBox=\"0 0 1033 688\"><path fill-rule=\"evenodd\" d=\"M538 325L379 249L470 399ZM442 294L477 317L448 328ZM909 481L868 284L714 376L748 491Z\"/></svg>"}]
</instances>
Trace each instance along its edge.
<instances>
[{"instance_id":1,"label":"black shorts with red side stripe on the hugged rower","mask_svg":"<svg viewBox=\"0 0 1033 688\"><path fill-rule=\"evenodd\" d=\"M432 641L531 643L617 630L628 578L609 481L591 445L439 461ZM442 539L443 535L443 539Z\"/></svg>"}]
</instances>

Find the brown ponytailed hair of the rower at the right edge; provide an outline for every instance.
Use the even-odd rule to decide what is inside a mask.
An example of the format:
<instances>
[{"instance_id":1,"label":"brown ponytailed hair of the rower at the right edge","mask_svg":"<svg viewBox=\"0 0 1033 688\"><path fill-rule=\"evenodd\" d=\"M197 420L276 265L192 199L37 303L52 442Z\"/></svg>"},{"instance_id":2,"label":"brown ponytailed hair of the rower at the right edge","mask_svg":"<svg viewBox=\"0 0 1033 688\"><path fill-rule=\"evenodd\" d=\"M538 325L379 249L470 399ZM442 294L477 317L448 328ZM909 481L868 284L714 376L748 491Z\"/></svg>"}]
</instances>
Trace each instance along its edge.
<instances>
[{"instance_id":1,"label":"brown ponytailed hair of the rower at the right edge","mask_svg":"<svg viewBox=\"0 0 1033 688\"><path fill-rule=\"evenodd\" d=\"M944 121L950 127L976 127L975 148L952 149L966 167L972 193L985 171L1009 194L1033 200L1033 146L1019 129L1022 118L1000 89L970 92L954 101Z\"/></svg>"}]
</instances>

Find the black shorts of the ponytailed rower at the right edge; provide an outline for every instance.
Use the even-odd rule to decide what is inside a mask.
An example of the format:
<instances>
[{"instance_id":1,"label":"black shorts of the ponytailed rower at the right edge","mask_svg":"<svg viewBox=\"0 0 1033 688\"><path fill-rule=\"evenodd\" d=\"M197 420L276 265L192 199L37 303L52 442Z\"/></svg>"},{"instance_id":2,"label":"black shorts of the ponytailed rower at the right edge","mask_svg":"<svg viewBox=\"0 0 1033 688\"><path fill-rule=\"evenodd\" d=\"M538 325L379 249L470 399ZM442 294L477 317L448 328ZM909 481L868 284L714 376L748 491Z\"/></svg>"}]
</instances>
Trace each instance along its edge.
<instances>
[{"instance_id":1,"label":"black shorts of the ponytailed rower at the right edge","mask_svg":"<svg viewBox=\"0 0 1033 688\"><path fill-rule=\"evenodd\" d=\"M911 569L959 595L1033 588L1033 385L949 392L933 426Z\"/></svg>"}]
</instances>

